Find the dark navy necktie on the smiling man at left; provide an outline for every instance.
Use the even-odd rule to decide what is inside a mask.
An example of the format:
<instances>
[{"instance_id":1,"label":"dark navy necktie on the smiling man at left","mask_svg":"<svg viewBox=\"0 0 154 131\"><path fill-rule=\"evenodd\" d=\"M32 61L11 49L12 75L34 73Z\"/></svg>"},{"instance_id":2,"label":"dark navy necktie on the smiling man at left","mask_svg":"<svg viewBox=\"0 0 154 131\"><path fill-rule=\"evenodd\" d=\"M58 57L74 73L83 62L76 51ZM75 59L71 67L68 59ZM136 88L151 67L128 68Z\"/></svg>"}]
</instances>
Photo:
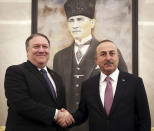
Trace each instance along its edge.
<instances>
[{"instance_id":1,"label":"dark navy necktie on the smiling man at left","mask_svg":"<svg viewBox=\"0 0 154 131\"><path fill-rule=\"evenodd\" d=\"M49 87L50 87L50 89L51 89L52 96L53 96L53 98L56 100L55 89L54 89L54 87L53 87L53 85L52 85L52 83L51 83L51 81L50 81L50 79L49 79L49 77L48 77L48 75L47 75L46 70L41 69L40 72L41 72L41 74L43 75L44 79L47 81L47 83L48 83L48 85L49 85Z\"/></svg>"}]
</instances>

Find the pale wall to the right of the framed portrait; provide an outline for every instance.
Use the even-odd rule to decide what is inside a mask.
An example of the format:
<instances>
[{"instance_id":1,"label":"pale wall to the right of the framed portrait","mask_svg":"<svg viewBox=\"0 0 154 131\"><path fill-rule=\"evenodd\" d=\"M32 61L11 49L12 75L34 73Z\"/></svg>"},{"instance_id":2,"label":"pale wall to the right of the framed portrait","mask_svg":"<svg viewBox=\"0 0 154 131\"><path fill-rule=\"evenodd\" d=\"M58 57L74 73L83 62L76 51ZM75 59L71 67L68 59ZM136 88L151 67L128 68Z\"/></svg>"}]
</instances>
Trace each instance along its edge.
<instances>
[{"instance_id":1,"label":"pale wall to the right of the framed portrait","mask_svg":"<svg viewBox=\"0 0 154 131\"><path fill-rule=\"evenodd\" d=\"M154 126L154 0L139 1L139 76L149 98Z\"/></svg>"}]
</instances>

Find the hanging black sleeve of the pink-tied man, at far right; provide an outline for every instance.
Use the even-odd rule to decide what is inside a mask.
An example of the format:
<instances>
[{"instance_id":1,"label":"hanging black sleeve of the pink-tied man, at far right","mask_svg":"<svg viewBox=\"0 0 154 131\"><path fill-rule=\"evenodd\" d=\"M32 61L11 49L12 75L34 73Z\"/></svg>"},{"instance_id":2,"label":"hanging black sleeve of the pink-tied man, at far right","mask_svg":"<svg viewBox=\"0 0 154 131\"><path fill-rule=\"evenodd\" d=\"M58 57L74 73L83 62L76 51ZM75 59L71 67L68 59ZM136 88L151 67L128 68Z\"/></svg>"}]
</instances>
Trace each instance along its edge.
<instances>
[{"instance_id":1,"label":"hanging black sleeve of the pink-tied man, at far right","mask_svg":"<svg viewBox=\"0 0 154 131\"><path fill-rule=\"evenodd\" d=\"M149 104L142 79L139 79L135 100L137 131L151 131Z\"/></svg>"}]
</instances>

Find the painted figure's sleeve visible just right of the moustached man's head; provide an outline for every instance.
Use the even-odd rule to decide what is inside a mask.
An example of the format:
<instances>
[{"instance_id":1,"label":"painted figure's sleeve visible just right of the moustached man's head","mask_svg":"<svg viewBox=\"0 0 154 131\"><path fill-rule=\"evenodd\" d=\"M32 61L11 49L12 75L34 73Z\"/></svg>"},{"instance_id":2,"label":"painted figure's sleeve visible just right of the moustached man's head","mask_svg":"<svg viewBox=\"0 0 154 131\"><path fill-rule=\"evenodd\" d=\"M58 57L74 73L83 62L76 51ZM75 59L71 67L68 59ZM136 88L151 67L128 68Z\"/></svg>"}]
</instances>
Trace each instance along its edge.
<instances>
[{"instance_id":1,"label":"painted figure's sleeve visible just right of the moustached man's head","mask_svg":"<svg viewBox=\"0 0 154 131\"><path fill-rule=\"evenodd\" d=\"M118 69L122 72L128 72L126 62L124 61L124 58L119 49L118 49L118 52L120 54Z\"/></svg>"}]
</instances>

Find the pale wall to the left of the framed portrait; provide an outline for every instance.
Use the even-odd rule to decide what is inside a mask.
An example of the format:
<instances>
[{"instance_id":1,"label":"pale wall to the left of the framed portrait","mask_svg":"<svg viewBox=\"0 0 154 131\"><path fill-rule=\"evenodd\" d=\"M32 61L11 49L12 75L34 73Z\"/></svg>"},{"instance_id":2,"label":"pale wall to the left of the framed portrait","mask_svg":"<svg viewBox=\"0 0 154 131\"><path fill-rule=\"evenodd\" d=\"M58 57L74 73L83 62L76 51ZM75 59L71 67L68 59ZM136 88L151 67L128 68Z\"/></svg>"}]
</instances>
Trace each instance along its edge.
<instances>
[{"instance_id":1,"label":"pale wall to the left of the framed portrait","mask_svg":"<svg viewBox=\"0 0 154 131\"><path fill-rule=\"evenodd\" d=\"M0 0L0 125L7 105L4 95L6 68L26 60L24 42L31 33L31 0Z\"/></svg>"}]
</instances>

